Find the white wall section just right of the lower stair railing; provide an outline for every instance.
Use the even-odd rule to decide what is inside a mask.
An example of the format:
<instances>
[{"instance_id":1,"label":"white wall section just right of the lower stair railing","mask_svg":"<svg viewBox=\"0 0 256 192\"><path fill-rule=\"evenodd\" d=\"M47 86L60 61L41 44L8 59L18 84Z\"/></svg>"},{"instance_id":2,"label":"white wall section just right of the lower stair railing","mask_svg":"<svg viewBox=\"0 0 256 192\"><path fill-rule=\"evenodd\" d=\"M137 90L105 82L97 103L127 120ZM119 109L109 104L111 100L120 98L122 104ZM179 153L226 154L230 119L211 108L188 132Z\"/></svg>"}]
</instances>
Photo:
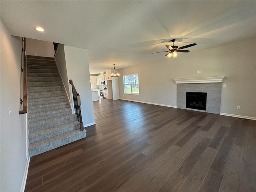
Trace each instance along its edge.
<instances>
[{"instance_id":1,"label":"white wall section just right of the lower stair railing","mask_svg":"<svg viewBox=\"0 0 256 192\"><path fill-rule=\"evenodd\" d=\"M95 122L90 84L88 50L64 46L64 51L68 80L73 80L76 91L80 94L84 127L93 125ZM71 89L70 94L72 94Z\"/></svg>"}]
</instances>

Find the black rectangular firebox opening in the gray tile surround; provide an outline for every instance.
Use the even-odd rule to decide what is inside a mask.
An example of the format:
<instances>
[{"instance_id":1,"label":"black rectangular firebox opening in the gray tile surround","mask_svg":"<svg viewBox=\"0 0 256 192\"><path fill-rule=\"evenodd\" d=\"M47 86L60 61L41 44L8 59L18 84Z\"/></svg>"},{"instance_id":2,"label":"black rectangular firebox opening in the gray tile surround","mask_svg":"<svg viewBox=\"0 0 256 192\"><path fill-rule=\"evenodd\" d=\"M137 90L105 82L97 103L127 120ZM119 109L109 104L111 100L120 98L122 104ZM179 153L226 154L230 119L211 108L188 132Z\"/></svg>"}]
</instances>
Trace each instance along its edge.
<instances>
[{"instance_id":1,"label":"black rectangular firebox opening in the gray tile surround","mask_svg":"<svg viewBox=\"0 0 256 192\"><path fill-rule=\"evenodd\" d=\"M186 92L186 108L206 111L207 93Z\"/></svg>"}]
</instances>

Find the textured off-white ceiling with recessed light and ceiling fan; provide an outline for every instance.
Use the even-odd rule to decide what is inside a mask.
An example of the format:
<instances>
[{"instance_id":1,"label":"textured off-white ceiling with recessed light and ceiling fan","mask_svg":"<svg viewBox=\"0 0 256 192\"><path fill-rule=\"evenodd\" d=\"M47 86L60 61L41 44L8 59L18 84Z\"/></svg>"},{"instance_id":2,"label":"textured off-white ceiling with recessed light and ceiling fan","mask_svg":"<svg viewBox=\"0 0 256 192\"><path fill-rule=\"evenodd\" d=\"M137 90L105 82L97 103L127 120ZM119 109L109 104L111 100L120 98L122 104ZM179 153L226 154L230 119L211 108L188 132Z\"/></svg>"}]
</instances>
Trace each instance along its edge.
<instances>
[{"instance_id":1,"label":"textured off-white ceiling with recessed light and ceiling fan","mask_svg":"<svg viewBox=\"0 0 256 192\"><path fill-rule=\"evenodd\" d=\"M256 1L1 0L0 8L12 35L88 49L90 73L161 59L165 53L151 53L173 38L196 43L192 54L256 35Z\"/></svg>"}]
</instances>

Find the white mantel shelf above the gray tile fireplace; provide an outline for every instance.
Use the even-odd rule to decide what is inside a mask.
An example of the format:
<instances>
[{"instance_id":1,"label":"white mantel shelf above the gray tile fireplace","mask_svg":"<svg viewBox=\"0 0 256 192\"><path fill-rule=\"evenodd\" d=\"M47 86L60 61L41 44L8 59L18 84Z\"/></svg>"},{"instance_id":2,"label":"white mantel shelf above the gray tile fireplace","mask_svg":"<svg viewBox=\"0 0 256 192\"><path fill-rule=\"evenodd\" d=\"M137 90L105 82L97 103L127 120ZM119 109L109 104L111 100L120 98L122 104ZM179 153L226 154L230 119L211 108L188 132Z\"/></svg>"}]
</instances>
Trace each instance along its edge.
<instances>
[{"instance_id":1,"label":"white mantel shelf above the gray tile fireplace","mask_svg":"<svg viewBox=\"0 0 256 192\"><path fill-rule=\"evenodd\" d=\"M199 77L199 78L186 78L186 79L174 79L176 84L188 84L188 83L222 83L226 77Z\"/></svg>"}]
</instances>

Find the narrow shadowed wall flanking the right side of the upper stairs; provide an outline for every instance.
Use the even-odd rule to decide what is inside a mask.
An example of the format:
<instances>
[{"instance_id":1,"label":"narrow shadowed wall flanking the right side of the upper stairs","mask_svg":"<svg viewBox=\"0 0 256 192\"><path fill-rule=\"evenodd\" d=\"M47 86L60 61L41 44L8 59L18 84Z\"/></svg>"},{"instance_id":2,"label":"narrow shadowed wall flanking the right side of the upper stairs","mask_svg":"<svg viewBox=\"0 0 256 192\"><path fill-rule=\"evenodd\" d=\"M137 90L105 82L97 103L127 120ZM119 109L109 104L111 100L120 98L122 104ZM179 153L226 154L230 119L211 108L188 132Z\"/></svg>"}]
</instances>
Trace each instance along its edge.
<instances>
[{"instance_id":1,"label":"narrow shadowed wall flanking the right side of the upper stairs","mask_svg":"<svg viewBox=\"0 0 256 192\"><path fill-rule=\"evenodd\" d=\"M56 54L54 56L56 64L58 66L58 70L60 72L60 76L62 78L64 87L66 89L68 99L70 100L70 93L69 93L69 83L68 83L68 75L67 75L67 68L66 68L66 60L65 60L65 51L64 45L59 44Z\"/></svg>"}]
</instances>

